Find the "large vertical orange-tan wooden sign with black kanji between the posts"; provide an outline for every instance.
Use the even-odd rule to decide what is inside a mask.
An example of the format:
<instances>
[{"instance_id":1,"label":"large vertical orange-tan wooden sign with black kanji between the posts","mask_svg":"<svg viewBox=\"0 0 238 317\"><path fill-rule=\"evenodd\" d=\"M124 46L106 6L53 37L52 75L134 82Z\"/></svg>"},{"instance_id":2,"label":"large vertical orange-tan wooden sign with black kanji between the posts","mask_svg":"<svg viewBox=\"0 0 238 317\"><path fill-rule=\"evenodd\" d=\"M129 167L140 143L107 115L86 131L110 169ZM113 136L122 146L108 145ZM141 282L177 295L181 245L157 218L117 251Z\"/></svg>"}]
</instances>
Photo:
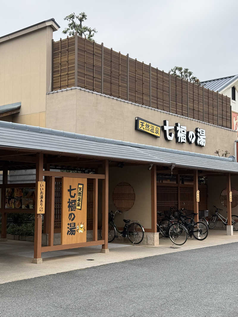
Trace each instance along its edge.
<instances>
[{"instance_id":1,"label":"large vertical orange-tan wooden sign with black kanji between the posts","mask_svg":"<svg viewBox=\"0 0 238 317\"><path fill-rule=\"evenodd\" d=\"M63 177L61 244L86 242L87 178Z\"/></svg>"}]
</instances>

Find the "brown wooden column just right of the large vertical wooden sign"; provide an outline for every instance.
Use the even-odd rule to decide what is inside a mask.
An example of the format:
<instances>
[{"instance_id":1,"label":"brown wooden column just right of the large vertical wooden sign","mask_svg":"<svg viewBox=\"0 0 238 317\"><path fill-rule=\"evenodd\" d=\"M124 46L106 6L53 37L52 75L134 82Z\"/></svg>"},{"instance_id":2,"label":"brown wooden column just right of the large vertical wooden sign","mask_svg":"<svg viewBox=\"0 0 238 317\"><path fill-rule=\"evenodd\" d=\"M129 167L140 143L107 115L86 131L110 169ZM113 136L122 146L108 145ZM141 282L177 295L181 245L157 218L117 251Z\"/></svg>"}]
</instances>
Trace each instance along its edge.
<instances>
[{"instance_id":1,"label":"brown wooden column just right of the large vertical wooden sign","mask_svg":"<svg viewBox=\"0 0 238 317\"><path fill-rule=\"evenodd\" d=\"M109 252L108 249L108 181L109 181L109 162L104 161L105 179L102 181L102 240L105 244L102 245L102 252Z\"/></svg>"}]
</instances>

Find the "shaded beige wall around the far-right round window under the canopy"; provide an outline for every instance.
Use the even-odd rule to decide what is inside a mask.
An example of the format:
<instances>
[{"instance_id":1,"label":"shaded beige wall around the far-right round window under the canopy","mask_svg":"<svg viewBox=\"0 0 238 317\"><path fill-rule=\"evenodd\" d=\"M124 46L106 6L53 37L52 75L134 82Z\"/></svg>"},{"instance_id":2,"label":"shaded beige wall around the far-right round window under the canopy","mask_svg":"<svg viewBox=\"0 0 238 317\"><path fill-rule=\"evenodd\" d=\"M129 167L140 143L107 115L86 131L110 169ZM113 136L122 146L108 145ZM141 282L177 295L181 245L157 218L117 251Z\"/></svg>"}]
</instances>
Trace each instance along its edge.
<instances>
[{"instance_id":1,"label":"shaded beige wall around the far-right round window under the canopy","mask_svg":"<svg viewBox=\"0 0 238 317\"><path fill-rule=\"evenodd\" d=\"M209 176L208 177L208 210L210 215L213 214L215 205L217 208L223 209L221 215L227 217L226 207L221 204L220 195L221 191L227 187L227 178L225 176ZM231 176L231 187L235 187L238 190L238 176ZM232 215L238 216L238 206L231 209Z\"/></svg>"}]
</instances>

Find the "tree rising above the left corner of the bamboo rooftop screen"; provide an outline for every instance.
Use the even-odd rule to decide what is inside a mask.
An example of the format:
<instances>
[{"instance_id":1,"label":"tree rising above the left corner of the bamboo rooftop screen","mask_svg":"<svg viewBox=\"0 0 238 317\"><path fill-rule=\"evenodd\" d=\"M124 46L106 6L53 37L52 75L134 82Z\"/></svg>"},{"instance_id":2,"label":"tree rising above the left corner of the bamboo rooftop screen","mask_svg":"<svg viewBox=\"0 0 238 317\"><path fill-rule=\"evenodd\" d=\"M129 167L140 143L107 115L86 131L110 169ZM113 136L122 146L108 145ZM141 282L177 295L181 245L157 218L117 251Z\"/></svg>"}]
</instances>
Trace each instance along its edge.
<instances>
[{"instance_id":1,"label":"tree rising above the left corner of the bamboo rooftop screen","mask_svg":"<svg viewBox=\"0 0 238 317\"><path fill-rule=\"evenodd\" d=\"M77 32L80 36L86 36L86 38L90 41L93 40L95 33L97 30L91 29L86 25L82 25L82 23L87 20L87 15L85 12L81 12L79 15L76 15L74 12L69 14L64 18L65 21L68 21L68 27L65 28L62 33L68 34L69 36L75 35ZM78 23L79 22L79 23Z\"/></svg>"}]
</instances>

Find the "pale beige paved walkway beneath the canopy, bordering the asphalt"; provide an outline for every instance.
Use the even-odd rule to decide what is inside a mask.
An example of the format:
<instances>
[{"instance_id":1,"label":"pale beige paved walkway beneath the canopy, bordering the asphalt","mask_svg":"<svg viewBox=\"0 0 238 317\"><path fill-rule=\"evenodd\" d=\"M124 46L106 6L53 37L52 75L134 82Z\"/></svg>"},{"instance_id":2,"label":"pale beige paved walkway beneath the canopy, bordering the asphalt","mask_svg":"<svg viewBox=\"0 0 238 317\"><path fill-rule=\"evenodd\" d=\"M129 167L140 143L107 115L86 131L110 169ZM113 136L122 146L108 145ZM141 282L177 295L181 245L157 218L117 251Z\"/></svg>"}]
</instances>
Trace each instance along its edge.
<instances>
[{"instance_id":1,"label":"pale beige paved walkway beneath the canopy, bordering the asphalt","mask_svg":"<svg viewBox=\"0 0 238 317\"><path fill-rule=\"evenodd\" d=\"M169 239L160 239L159 247L109 243L109 253L100 253L101 246L42 253L43 263L31 263L33 243L8 240L0 243L0 284L36 276L56 274L107 263L121 262L165 253L180 252L214 245L238 242L238 232L227 236L225 230L209 230L206 240L188 241L178 249ZM175 246L175 245L174 245ZM177 247L177 246L175 246ZM92 259L94 261L87 261Z\"/></svg>"}]
</instances>

